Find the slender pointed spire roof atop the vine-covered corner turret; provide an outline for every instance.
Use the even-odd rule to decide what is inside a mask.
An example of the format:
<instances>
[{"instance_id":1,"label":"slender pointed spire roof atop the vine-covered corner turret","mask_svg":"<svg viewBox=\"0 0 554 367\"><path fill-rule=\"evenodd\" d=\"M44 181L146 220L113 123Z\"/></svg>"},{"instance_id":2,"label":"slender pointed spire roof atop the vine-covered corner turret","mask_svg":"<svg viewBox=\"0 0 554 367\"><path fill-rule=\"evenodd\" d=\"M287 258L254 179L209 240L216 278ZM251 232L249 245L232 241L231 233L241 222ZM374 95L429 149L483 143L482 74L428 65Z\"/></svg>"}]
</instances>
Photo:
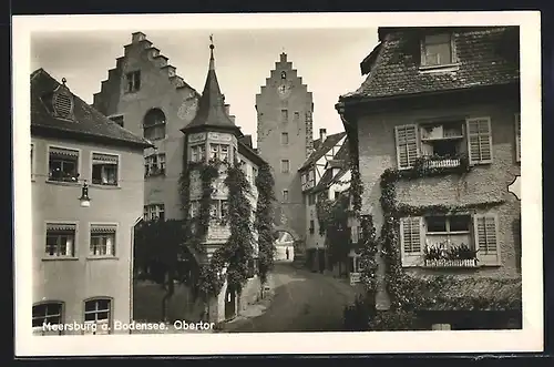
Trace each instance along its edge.
<instances>
[{"instance_id":1,"label":"slender pointed spire roof atop the vine-covered corner turret","mask_svg":"<svg viewBox=\"0 0 554 367\"><path fill-rule=\"evenodd\" d=\"M204 85L204 91L198 101L198 110L193 121L181 131L188 133L193 130L215 128L217 130L227 130L242 136L240 129L235 125L225 111L225 96L219 89L219 83L217 82L217 75L215 73L215 47L212 35L209 40L212 41L209 44L209 68L206 77L206 84Z\"/></svg>"}]
</instances>

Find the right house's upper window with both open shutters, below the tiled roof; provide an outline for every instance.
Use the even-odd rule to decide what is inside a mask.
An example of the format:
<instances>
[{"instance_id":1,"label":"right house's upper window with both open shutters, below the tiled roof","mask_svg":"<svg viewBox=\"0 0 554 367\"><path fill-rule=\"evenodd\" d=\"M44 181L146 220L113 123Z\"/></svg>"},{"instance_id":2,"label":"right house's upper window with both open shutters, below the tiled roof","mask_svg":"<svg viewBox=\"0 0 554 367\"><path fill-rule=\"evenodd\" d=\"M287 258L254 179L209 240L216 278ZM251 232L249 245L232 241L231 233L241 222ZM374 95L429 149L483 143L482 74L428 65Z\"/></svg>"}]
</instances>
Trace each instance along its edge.
<instances>
[{"instance_id":1,"label":"right house's upper window with both open shutters, below the tiled roof","mask_svg":"<svg viewBox=\"0 0 554 367\"><path fill-rule=\"evenodd\" d=\"M460 157L468 155L470 164L492 162L492 133L489 118L439 120L394 128L397 164L411 169L420 156L425 165L456 167Z\"/></svg>"}]
</instances>

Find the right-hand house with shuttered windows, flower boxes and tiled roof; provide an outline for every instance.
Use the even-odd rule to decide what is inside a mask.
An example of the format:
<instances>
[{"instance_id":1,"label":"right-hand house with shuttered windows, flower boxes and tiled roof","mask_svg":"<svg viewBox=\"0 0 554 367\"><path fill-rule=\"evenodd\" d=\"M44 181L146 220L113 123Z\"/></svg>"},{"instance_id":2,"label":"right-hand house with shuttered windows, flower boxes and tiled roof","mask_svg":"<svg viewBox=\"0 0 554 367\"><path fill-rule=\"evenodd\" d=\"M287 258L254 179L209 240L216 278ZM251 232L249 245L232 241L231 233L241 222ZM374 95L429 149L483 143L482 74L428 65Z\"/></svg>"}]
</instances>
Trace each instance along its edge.
<instances>
[{"instance_id":1,"label":"right-hand house with shuttered windows, flower boxes and tiled roof","mask_svg":"<svg viewBox=\"0 0 554 367\"><path fill-rule=\"evenodd\" d=\"M362 214L379 234L383 172L409 177L392 192L401 265L455 276L443 290L465 297L460 309L425 309L432 327L521 327L521 203L507 190L521 174L517 28L380 28L379 40L361 63L367 80L337 105L356 137ZM502 297L500 316L463 306ZM381 292L378 307L389 300Z\"/></svg>"}]
</instances>

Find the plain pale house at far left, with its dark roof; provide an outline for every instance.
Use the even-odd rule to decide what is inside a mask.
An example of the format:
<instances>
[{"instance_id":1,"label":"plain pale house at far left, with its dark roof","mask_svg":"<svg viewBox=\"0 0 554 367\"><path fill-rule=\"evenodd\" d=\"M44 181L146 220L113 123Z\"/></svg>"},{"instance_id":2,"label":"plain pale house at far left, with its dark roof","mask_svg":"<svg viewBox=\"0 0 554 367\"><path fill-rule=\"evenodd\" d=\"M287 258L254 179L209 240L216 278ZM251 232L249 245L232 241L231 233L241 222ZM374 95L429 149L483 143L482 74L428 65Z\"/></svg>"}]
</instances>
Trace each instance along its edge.
<instances>
[{"instance_id":1,"label":"plain pale house at far left, with its dark roof","mask_svg":"<svg viewBox=\"0 0 554 367\"><path fill-rule=\"evenodd\" d=\"M115 320L132 319L133 230L150 145L73 95L65 80L42 69L31 74L35 334L106 334Z\"/></svg>"}]
</instances>

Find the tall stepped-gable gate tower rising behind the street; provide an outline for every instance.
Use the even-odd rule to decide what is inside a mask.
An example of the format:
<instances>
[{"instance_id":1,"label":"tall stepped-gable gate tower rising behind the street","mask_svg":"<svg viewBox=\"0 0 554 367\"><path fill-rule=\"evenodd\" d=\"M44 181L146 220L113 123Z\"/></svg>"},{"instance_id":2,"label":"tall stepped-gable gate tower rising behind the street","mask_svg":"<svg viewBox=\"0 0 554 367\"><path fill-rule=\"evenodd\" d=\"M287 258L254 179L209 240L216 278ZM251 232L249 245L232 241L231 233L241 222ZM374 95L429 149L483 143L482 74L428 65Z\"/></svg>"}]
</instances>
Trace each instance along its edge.
<instances>
[{"instance_id":1,"label":"tall stepped-gable gate tower rising behind the street","mask_svg":"<svg viewBox=\"0 0 554 367\"><path fill-rule=\"evenodd\" d=\"M256 95L257 147L275 177L275 224L306 233L301 184L297 174L314 146L314 103L287 54L281 53ZM295 238L302 239L302 238Z\"/></svg>"}]
</instances>

